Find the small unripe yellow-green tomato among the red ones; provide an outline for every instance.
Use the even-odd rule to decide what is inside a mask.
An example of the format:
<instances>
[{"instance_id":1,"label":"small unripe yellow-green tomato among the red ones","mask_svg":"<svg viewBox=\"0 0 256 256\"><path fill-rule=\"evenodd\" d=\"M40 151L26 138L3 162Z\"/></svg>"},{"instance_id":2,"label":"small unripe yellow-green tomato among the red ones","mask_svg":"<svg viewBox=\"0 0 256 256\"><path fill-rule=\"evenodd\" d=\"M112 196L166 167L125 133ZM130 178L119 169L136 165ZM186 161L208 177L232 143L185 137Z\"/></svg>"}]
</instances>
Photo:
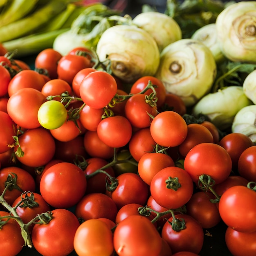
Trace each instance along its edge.
<instances>
[{"instance_id":1,"label":"small unripe yellow-green tomato among the red ones","mask_svg":"<svg viewBox=\"0 0 256 256\"><path fill-rule=\"evenodd\" d=\"M46 101L38 112L37 118L41 126L54 130L61 127L67 119L67 110L60 101Z\"/></svg>"}]
</instances>

